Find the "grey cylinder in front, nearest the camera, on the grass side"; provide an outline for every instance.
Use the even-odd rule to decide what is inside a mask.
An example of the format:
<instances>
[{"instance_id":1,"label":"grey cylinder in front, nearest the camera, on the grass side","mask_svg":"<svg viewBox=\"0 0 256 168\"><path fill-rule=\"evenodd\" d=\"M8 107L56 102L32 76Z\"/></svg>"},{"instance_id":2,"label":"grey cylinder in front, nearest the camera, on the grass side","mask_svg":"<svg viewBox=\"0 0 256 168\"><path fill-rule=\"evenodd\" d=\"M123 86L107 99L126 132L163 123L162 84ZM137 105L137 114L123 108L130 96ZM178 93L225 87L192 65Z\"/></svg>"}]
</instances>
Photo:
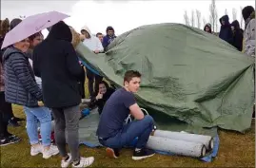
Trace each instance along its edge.
<instances>
[{"instance_id":1,"label":"grey cylinder in front, nearest the camera, on the grass side","mask_svg":"<svg viewBox=\"0 0 256 168\"><path fill-rule=\"evenodd\" d=\"M154 136L149 137L147 147L152 150L193 158L205 157L207 153L207 148L203 143Z\"/></svg>"}]
</instances>

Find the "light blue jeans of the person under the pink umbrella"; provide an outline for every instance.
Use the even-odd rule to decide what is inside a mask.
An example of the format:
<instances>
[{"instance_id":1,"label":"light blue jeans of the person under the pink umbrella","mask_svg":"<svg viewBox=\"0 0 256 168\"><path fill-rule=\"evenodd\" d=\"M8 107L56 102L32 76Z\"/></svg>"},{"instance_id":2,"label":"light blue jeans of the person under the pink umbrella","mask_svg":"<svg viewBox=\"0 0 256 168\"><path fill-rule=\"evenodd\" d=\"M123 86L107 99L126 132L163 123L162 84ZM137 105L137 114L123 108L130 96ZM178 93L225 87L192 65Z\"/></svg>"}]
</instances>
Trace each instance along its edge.
<instances>
[{"instance_id":1,"label":"light blue jeans of the person under the pink umbrella","mask_svg":"<svg viewBox=\"0 0 256 168\"><path fill-rule=\"evenodd\" d=\"M38 132L37 121L40 122L40 132L42 137L43 146L50 145L50 133L51 133L51 115L49 108L47 107L35 107L30 108L24 106L24 111L27 117L27 133L30 139L30 144L37 144Z\"/></svg>"}]
</instances>

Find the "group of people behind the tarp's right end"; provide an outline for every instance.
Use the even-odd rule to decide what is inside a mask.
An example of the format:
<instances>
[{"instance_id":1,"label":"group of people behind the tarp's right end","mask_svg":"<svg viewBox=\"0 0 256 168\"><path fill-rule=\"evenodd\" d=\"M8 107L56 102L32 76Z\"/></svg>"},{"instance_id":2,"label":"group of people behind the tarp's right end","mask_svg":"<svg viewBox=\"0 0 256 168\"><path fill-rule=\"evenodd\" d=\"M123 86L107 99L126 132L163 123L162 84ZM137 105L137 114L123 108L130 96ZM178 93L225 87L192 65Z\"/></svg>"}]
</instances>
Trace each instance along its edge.
<instances>
[{"instance_id":1,"label":"group of people behind the tarp's right end","mask_svg":"<svg viewBox=\"0 0 256 168\"><path fill-rule=\"evenodd\" d=\"M230 24L228 15L222 16L219 37L239 51L243 51L249 56L255 56L255 9L247 6L242 10L242 15L246 23L245 30L240 28L237 20ZM210 24L207 24L204 30L213 33Z\"/></svg>"}]
</instances>

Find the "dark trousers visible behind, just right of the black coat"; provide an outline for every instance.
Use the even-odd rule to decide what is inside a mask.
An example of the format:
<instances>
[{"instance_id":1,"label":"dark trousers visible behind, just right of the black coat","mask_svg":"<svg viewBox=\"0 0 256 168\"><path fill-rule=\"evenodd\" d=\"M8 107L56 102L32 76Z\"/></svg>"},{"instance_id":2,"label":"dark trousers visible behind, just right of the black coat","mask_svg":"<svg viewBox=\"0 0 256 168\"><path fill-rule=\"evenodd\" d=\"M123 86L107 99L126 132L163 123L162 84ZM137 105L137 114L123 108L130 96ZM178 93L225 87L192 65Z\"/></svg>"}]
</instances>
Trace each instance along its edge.
<instances>
[{"instance_id":1,"label":"dark trousers visible behind, just right of the black coat","mask_svg":"<svg viewBox=\"0 0 256 168\"><path fill-rule=\"evenodd\" d=\"M88 88L89 88L89 96L92 97L95 94L98 94L99 92L99 83L102 81L103 77L94 74L93 72L91 72L89 70L89 68L87 69L87 77L88 77ZM94 91L93 91L93 83L95 80L95 84L94 84Z\"/></svg>"}]
</instances>

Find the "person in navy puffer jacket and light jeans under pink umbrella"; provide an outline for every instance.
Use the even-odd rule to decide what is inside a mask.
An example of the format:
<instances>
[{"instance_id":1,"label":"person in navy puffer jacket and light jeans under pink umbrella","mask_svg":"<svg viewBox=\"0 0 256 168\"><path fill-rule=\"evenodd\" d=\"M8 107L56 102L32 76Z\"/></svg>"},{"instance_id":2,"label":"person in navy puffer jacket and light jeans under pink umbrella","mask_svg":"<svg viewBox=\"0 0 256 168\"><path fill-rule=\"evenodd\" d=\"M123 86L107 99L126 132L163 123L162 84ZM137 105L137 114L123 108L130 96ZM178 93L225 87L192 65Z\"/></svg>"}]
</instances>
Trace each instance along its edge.
<instances>
[{"instance_id":1,"label":"person in navy puffer jacket and light jeans under pink umbrella","mask_svg":"<svg viewBox=\"0 0 256 168\"><path fill-rule=\"evenodd\" d=\"M24 39L8 47L3 56L5 70L5 99L8 103L24 106L27 118L27 133L30 139L30 155L43 153L44 159L49 159L59 153L56 146L51 145L51 116L48 110L42 108L43 95L35 82L34 73L26 54L30 40ZM42 144L37 134L37 120L40 121Z\"/></svg>"}]
</instances>

